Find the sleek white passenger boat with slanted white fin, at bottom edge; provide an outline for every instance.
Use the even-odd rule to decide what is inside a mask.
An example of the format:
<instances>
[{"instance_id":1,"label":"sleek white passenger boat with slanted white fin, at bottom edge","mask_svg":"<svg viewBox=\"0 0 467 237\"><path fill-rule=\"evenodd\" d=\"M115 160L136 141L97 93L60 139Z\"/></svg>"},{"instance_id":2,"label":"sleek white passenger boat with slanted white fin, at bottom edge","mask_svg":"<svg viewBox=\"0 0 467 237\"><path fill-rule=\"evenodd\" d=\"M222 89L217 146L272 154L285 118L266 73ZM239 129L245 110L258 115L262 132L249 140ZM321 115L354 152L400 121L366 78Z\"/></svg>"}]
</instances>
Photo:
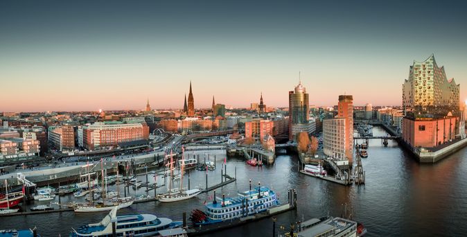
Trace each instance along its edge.
<instances>
[{"instance_id":1,"label":"sleek white passenger boat with slanted white fin, at bottom edge","mask_svg":"<svg viewBox=\"0 0 467 237\"><path fill-rule=\"evenodd\" d=\"M116 216L116 212L117 209L114 208L100 222L73 229L70 236L112 236L112 220L115 220L116 236L158 236L161 230L183 225L182 222L175 222L169 218L158 218L151 214Z\"/></svg>"}]
</instances>

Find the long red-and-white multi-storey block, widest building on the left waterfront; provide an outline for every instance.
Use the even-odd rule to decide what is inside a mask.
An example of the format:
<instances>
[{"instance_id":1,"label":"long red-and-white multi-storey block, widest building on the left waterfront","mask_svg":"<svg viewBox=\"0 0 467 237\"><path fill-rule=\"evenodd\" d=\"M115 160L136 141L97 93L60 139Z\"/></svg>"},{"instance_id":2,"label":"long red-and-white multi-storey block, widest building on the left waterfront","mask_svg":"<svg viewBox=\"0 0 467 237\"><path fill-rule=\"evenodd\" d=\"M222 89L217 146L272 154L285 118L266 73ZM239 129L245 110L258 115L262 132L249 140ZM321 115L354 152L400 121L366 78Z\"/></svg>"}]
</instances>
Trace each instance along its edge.
<instances>
[{"instance_id":1,"label":"long red-and-white multi-storey block, widest building on the left waterfront","mask_svg":"<svg viewBox=\"0 0 467 237\"><path fill-rule=\"evenodd\" d=\"M116 146L136 146L148 143L146 123L120 121L96 122L82 128L83 146L88 150Z\"/></svg>"}]
</instances>

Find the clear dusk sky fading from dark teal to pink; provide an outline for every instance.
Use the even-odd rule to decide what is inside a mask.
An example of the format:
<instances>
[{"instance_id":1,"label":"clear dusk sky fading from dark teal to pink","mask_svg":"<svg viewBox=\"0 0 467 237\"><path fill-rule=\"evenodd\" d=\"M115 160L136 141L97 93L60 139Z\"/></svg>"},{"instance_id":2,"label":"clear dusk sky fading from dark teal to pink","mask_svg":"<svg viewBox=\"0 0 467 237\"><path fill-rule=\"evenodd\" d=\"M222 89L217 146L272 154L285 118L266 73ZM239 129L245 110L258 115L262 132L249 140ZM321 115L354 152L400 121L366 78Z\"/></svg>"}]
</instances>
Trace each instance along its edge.
<instances>
[{"instance_id":1,"label":"clear dusk sky fading from dark teal to pink","mask_svg":"<svg viewBox=\"0 0 467 237\"><path fill-rule=\"evenodd\" d=\"M463 1L0 1L0 112L400 105L432 53L467 98Z\"/></svg>"}]
</instances>

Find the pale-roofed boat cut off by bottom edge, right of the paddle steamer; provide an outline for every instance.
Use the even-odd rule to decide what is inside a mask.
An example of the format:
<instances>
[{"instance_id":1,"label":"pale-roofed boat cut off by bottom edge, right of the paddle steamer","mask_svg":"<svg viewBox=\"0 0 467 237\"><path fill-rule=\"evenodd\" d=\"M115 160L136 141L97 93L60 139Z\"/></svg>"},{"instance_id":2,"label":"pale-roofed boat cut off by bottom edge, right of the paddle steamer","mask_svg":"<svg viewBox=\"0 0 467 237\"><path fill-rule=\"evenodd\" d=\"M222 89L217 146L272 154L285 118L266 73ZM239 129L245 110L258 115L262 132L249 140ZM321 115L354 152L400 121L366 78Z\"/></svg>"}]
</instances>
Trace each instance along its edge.
<instances>
[{"instance_id":1,"label":"pale-roofed boat cut off by bottom edge, right of the paddle steamer","mask_svg":"<svg viewBox=\"0 0 467 237\"><path fill-rule=\"evenodd\" d=\"M298 231L294 236L339 236L355 237L358 235L357 222L344 218L312 218L297 224ZM290 233L285 233L290 237Z\"/></svg>"}]
</instances>

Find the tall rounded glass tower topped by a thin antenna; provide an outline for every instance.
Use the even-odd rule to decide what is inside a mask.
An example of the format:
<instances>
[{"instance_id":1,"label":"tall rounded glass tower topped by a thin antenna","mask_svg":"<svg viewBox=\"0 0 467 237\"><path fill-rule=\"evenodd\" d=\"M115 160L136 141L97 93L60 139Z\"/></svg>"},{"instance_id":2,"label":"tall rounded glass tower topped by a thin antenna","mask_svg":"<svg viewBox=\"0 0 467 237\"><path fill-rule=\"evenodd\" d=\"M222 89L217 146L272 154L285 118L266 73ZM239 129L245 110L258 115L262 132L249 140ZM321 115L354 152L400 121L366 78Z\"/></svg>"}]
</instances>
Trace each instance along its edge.
<instances>
[{"instance_id":1,"label":"tall rounded glass tower topped by a thin antenna","mask_svg":"<svg viewBox=\"0 0 467 237\"><path fill-rule=\"evenodd\" d=\"M294 140L299 132L315 132L310 123L309 100L306 88L301 85L295 87L294 91L289 91L289 139Z\"/></svg>"}]
</instances>

